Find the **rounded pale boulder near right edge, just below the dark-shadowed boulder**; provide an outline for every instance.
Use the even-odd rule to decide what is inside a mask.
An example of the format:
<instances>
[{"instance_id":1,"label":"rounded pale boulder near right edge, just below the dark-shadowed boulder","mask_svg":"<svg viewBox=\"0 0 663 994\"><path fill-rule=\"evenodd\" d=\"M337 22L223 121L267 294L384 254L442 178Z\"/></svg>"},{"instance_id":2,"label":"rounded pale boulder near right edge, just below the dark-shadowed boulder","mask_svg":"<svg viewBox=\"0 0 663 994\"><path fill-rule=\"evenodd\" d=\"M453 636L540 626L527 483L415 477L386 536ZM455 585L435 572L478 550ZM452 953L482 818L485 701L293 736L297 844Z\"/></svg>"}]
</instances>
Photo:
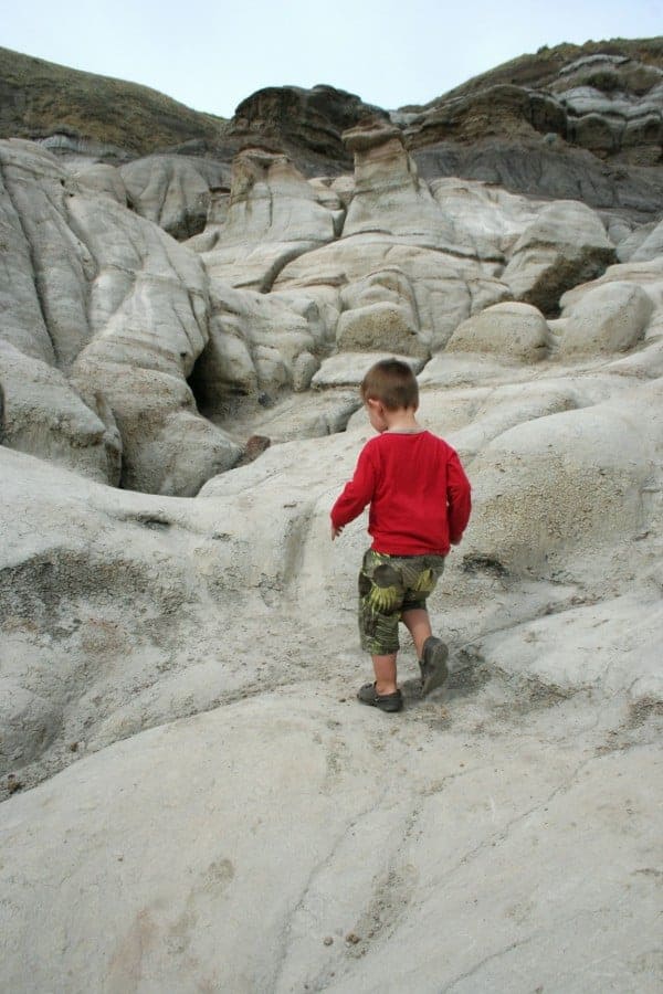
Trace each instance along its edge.
<instances>
[{"instance_id":1,"label":"rounded pale boulder near right edge, just below the dark-shadowed boulder","mask_svg":"<svg viewBox=\"0 0 663 994\"><path fill-rule=\"evenodd\" d=\"M590 286L562 310L566 328L560 351L566 356L627 351L643 337L653 310L651 298L636 284L614 281Z\"/></svg>"}]
</instances>

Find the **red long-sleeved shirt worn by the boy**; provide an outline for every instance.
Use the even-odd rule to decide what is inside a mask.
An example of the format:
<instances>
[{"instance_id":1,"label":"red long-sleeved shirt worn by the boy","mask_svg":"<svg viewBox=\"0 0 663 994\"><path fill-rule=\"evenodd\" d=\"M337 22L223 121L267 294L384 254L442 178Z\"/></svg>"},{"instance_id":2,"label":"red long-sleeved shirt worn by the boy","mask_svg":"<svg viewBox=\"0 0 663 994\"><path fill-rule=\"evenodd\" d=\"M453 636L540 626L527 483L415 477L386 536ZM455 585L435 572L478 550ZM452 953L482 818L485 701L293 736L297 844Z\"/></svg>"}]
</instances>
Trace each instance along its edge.
<instances>
[{"instance_id":1,"label":"red long-sleeved shirt worn by the boy","mask_svg":"<svg viewBox=\"0 0 663 994\"><path fill-rule=\"evenodd\" d=\"M446 556L470 520L470 480L455 451L431 432L382 432L359 453L332 524L341 528L367 504L376 552Z\"/></svg>"}]
</instances>

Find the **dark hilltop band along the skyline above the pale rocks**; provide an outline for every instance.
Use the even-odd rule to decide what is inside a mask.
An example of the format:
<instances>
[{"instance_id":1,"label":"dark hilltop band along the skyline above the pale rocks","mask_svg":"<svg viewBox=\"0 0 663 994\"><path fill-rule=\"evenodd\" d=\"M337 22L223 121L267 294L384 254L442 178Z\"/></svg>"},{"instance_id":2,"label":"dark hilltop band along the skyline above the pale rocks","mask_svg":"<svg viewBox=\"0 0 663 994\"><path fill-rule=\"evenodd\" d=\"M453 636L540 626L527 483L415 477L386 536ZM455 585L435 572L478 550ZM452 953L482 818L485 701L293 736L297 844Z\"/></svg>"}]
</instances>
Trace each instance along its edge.
<instances>
[{"instance_id":1,"label":"dark hilltop band along the skyline above the pale rocks","mask_svg":"<svg viewBox=\"0 0 663 994\"><path fill-rule=\"evenodd\" d=\"M636 222L663 210L663 38L544 46L390 112L333 86L273 86L230 120L0 50L0 137L45 138L61 157L120 163L176 151L227 169L242 148L262 147L305 176L337 176L352 165L343 133L365 118L390 118L428 180L581 200Z\"/></svg>"}]
</instances>

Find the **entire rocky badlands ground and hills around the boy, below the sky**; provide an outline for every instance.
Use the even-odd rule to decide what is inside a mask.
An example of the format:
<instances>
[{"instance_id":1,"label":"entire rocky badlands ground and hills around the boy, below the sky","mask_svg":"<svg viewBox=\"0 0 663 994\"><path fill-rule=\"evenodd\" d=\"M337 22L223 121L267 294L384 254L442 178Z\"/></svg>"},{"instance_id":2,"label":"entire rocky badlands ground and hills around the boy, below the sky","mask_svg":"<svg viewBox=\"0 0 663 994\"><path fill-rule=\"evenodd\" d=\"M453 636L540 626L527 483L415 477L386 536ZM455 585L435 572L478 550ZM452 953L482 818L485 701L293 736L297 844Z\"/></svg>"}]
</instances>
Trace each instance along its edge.
<instances>
[{"instance_id":1,"label":"entire rocky badlands ground and hills around the boy, below the sky","mask_svg":"<svg viewBox=\"0 0 663 994\"><path fill-rule=\"evenodd\" d=\"M0 55L0 990L660 991L663 40L229 121ZM474 494L396 716L390 355Z\"/></svg>"}]
</instances>

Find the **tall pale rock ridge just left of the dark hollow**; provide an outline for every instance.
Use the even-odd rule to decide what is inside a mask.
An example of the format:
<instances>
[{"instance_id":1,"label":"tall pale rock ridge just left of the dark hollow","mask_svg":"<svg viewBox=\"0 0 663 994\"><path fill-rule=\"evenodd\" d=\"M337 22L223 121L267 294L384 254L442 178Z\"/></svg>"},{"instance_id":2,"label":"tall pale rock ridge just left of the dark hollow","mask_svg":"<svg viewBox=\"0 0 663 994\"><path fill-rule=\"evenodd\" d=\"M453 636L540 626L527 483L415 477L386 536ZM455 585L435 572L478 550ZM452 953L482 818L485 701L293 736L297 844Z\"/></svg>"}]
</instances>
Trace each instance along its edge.
<instances>
[{"instance_id":1,"label":"tall pale rock ridge just left of the dark hollow","mask_svg":"<svg viewBox=\"0 0 663 994\"><path fill-rule=\"evenodd\" d=\"M202 266L154 224L113 204L102 218L82 198L69 210L98 264L88 305L93 338L76 358L73 381L110 403L123 436L124 486L191 496L240 454L212 424L197 421L186 381L208 340Z\"/></svg>"}]
</instances>

